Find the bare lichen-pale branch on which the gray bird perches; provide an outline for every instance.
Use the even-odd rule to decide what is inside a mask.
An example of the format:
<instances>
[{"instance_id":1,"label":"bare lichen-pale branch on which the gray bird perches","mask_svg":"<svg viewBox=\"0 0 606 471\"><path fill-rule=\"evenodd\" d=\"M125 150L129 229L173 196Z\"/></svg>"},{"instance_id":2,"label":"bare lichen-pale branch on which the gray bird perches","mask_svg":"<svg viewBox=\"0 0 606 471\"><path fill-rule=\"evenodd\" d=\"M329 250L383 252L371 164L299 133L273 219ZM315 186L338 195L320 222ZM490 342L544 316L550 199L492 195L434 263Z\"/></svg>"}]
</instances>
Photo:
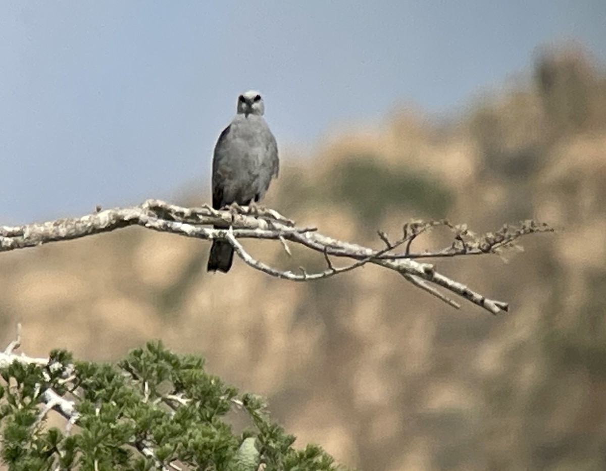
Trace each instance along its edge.
<instances>
[{"instance_id":1,"label":"bare lichen-pale branch on which the gray bird perches","mask_svg":"<svg viewBox=\"0 0 606 471\"><path fill-rule=\"evenodd\" d=\"M0 252L48 242L79 239L134 225L196 239L227 240L236 254L251 268L291 281L306 282L328 278L371 263L398 272L414 286L435 295L450 306L460 307L456 301L439 291L438 287L493 314L507 311L507 303L491 300L463 283L439 273L434 265L418 262L415 259L498 253L507 246L514 246L516 240L523 235L552 230L546 225L538 225L530 221L522 223L519 227L504 226L494 234L485 234L477 238L467 231L465 226L451 226L447 221L416 222L404 225L401 239L393 243L386 234L379 232L385 248L373 249L333 239L320 234L315 228L297 227L292 221L271 209L238 207L217 211L207 205L201 208L183 208L150 199L139 206L106 209L79 218L65 218L22 226L0 226ZM447 226L452 229L455 232L453 244L435 252L411 252L413 240L434 226ZM287 251L287 241L299 243L324 254L327 268L313 273L302 268L301 273L295 273L272 267L254 259L244 248L242 239L276 240ZM396 251L401 246L404 246L405 251ZM335 267L329 257L350 259L351 263L343 267Z\"/></svg>"}]
</instances>

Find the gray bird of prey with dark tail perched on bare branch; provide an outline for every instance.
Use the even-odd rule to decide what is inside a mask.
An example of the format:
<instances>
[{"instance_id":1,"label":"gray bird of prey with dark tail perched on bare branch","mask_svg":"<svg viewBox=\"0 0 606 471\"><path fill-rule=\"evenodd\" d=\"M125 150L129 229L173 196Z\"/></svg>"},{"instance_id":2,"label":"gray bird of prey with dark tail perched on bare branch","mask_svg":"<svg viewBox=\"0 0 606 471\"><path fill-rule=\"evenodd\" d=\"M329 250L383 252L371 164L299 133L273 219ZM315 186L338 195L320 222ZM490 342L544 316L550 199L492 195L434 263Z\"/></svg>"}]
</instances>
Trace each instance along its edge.
<instances>
[{"instance_id":1,"label":"gray bird of prey with dark tail perched on bare branch","mask_svg":"<svg viewBox=\"0 0 606 471\"><path fill-rule=\"evenodd\" d=\"M271 179L278 176L278 145L263 118L264 112L258 91L248 90L238 97L238 113L215 145L213 208L258 202ZM232 260L230 243L213 240L207 271L227 272Z\"/></svg>"}]
</instances>

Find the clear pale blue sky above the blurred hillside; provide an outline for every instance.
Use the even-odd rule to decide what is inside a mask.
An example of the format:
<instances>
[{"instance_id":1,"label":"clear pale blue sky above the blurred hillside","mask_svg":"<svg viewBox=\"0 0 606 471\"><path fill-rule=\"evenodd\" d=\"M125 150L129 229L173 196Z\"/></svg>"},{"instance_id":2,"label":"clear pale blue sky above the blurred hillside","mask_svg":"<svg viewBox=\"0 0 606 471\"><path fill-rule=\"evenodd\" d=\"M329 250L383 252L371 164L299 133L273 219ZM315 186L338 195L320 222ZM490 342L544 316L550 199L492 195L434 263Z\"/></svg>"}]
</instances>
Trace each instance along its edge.
<instances>
[{"instance_id":1,"label":"clear pale blue sky above the blurred hillside","mask_svg":"<svg viewBox=\"0 0 606 471\"><path fill-rule=\"evenodd\" d=\"M261 90L281 148L402 102L436 115L578 40L604 0L0 2L0 224L206 189L216 138Z\"/></svg>"}]
</instances>

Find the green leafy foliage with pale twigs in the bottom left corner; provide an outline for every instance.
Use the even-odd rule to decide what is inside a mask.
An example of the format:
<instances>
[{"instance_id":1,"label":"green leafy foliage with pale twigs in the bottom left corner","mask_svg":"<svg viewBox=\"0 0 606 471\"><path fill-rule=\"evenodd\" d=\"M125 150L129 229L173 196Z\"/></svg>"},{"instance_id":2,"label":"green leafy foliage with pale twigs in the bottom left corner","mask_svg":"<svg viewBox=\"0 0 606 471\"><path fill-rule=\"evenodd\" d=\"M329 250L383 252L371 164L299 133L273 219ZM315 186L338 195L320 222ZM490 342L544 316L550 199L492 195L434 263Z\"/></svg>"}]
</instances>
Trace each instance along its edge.
<instances>
[{"instance_id":1,"label":"green leafy foliage with pale twigs in the bottom left corner","mask_svg":"<svg viewBox=\"0 0 606 471\"><path fill-rule=\"evenodd\" d=\"M261 462L267 470L339 469L317 446L294 449L295 437L268 420L261 398L238 395L204 371L202 358L175 355L159 342L117 367L55 351L48 366L14 361L0 375L1 457L10 471L142 471L176 459L196 470L256 471ZM75 402L70 433L46 426L48 388ZM236 434L225 420L236 403L253 430Z\"/></svg>"}]
</instances>

